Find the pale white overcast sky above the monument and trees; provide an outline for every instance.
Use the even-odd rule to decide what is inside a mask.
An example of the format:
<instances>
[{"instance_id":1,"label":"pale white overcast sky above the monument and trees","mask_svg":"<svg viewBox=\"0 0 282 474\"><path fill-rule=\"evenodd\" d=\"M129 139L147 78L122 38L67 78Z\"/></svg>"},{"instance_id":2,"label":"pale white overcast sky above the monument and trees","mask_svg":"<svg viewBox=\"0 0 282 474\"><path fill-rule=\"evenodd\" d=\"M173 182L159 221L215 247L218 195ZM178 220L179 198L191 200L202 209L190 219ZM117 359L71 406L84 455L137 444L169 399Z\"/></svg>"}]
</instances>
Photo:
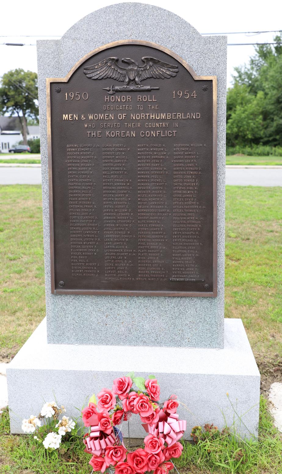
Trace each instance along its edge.
<instances>
[{"instance_id":1,"label":"pale white overcast sky above the monument and trees","mask_svg":"<svg viewBox=\"0 0 282 474\"><path fill-rule=\"evenodd\" d=\"M136 3L135 1L133 1ZM106 0L22 0L0 1L0 43L35 44L36 37L61 37L91 11L119 1ZM227 33L282 29L281 0L154 0L144 1L168 9L191 23L200 33ZM128 21L128 19L127 19ZM134 19L131 19L134 21ZM22 37L29 35L30 37ZM227 35L228 43L264 43L275 33ZM53 38L56 39L56 38ZM142 39L142 38L137 38ZM232 83L234 67L248 63L254 46L227 47L227 86ZM36 71L36 46L0 45L0 76L11 69Z\"/></svg>"}]
</instances>

